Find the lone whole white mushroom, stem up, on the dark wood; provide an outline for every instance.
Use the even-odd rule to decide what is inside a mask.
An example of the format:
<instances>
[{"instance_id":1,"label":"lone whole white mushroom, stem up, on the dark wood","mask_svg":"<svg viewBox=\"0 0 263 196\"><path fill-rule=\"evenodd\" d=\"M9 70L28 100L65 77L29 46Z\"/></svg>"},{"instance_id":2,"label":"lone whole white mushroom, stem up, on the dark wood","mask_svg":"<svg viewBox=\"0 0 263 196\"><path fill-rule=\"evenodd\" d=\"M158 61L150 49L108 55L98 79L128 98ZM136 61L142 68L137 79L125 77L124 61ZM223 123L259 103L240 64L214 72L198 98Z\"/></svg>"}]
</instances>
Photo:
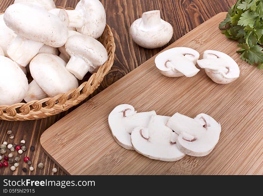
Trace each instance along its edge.
<instances>
[{"instance_id":1,"label":"lone whole white mushroom, stem up, on the dark wood","mask_svg":"<svg viewBox=\"0 0 263 196\"><path fill-rule=\"evenodd\" d=\"M144 48L159 48L167 44L173 35L172 25L161 19L160 10L144 12L130 28L133 41Z\"/></svg>"}]
</instances>

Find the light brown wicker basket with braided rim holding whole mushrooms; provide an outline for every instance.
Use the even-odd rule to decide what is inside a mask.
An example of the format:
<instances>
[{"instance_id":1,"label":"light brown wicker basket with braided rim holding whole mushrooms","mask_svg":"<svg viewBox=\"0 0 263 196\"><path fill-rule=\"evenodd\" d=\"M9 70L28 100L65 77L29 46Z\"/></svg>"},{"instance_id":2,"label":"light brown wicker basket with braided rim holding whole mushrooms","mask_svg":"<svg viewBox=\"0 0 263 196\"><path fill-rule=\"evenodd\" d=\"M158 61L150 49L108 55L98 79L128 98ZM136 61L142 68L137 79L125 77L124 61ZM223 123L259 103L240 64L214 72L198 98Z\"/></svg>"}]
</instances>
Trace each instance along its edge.
<instances>
[{"instance_id":1,"label":"light brown wicker basket with braided rim holding whole mushrooms","mask_svg":"<svg viewBox=\"0 0 263 196\"><path fill-rule=\"evenodd\" d=\"M62 7L58 7L62 8ZM73 8L66 8L74 10ZM88 81L83 82L77 89L71 89L65 94L55 97L34 100L28 103L18 103L11 106L0 106L0 119L7 121L26 121L46 118L79 104L94 92L103 81L104 76L111 70L114 61L115 43L111 28L106 24L102 36L98 39L108 52L108 61L91 75ZM68 99L68 96L71 98Z\"/></svg>"}]
</instances>

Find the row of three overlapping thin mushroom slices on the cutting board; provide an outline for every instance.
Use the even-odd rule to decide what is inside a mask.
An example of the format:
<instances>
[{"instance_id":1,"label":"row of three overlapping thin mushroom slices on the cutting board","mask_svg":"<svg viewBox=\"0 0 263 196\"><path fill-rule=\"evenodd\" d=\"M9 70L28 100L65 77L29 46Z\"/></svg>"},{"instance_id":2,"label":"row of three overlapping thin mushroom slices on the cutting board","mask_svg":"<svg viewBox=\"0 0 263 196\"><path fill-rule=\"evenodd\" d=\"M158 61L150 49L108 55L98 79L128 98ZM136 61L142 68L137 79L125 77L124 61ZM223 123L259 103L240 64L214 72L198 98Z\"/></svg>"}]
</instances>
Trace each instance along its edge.
<instances>
[{"instance_id":1,"label":"row of three overlapping thin mushroom slices on the cutting board","mask_svg":"<svg viewBox=\"0 0 263 196\"><path fill-rule=\"evenodd\" d=\"M108 116L115 141L128 150L156 160L176 161L185 155L208 155L218 143L221 125L207 114L195 118L175 113L139 112L128 104L115 107Z\"/></svg>"}]
</instances>

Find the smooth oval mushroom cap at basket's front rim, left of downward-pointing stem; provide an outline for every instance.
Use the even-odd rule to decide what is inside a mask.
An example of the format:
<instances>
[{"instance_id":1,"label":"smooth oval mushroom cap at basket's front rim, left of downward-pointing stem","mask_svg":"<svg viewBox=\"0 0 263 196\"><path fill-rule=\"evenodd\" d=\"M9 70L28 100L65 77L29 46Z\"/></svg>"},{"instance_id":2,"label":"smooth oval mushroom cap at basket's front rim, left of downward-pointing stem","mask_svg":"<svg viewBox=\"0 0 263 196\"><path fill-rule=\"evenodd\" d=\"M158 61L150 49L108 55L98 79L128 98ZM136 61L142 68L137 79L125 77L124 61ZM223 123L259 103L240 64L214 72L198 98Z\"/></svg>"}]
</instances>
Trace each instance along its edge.
<instances>
[{"instance_id":1,"label":"smooth oval mushroom cap at basket's front rim, left of downward-pointing stem","mask_svg":"<svg viewBox=\"0 0 263 196\"><path fill-rule=\"evenodd\" d=\"M40 53L29 66L32 77L49 97L78 87L77 78L66 70L66 62L56 55Z\"/></svg>"}]
</instances>

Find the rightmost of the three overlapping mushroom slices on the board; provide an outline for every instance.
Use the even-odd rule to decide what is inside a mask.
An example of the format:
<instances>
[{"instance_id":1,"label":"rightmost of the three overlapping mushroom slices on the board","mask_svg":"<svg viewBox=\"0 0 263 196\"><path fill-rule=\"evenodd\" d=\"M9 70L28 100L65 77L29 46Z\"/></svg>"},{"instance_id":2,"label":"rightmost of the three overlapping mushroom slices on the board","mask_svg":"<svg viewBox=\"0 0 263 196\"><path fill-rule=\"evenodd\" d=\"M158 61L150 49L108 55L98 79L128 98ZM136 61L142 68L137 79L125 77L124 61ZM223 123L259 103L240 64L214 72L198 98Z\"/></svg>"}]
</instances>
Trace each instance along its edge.
<instances>
[{"instance_id":1,"label":"rightmost of the three overlapping mushroom slices on the board","mask_svg":"<svg viewBox=\"0 0 263 196\"><path fill-rule=\"evenodd\" d=\"M218 143L221 125L206 114L195 118L175 113L166 123L179 136L176 145L181 152L201 157L208 155Z\"/></svg>"}]
</instances>

